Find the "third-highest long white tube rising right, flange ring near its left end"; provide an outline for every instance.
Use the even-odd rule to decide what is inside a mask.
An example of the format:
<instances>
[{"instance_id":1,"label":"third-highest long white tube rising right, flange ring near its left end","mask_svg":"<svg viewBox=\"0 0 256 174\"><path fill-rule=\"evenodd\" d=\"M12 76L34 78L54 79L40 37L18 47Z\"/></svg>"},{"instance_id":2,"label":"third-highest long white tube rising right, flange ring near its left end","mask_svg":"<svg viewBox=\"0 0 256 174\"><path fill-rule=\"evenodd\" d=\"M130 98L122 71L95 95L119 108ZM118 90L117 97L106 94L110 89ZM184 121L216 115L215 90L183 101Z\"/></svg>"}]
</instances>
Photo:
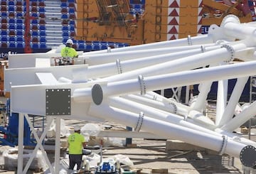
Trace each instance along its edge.
<instances>
[{"instance_id":1,"label":"third-highest long white tube rising right, flange ring near its left end","mask_svg":"<svg viewBox=\"0 0 256 174\"><path fill-rule=\"evenodd\" d=\"M151 65L157 65L159 63L168 62L171 60L177 60L179 58L188 57L189 55L196 55L202 52L207 52L210 50L215 50L220 48L220 45L213 46L209 48L196 48L193 50L183 50L182 52L177 53L166 53L159 55L149 56L145 58L132 59L132 60L116 60L116 62L106 63L103 65L94 65L88 67L87 77L95 78L95 77L107 77L110 75L118 75L120 73L129 72L132 70L138 70L139 68L147 68ZM105 58L102 59L104 61Z\"/></svg>"}]
</instances>

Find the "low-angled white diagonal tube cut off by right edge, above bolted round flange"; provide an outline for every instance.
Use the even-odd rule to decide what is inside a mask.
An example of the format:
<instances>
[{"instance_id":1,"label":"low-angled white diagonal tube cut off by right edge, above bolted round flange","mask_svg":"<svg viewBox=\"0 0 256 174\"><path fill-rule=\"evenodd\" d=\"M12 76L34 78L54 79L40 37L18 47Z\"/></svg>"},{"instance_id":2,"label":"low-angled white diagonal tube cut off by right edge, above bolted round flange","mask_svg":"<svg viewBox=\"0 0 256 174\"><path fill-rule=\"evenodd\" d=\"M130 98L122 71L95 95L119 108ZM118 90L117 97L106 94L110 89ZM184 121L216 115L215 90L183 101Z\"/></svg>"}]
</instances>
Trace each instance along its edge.
<instances>
[{"instance_id":1,"label":"low-angled white diagonal tube cut off by right edge, above bolted round flange","mask_svg":"<svg viewBox=\"0 0 256 174\"><path fill-rule=\"evenodd\" d=\"M220 129L223 129L225 131L234 131L239 126L244 124L246 121L248 121L252 116L256 115L256 102L253 102L250 104L249 107L244 109L242 112L240 112L237 116L235 116L233 119L228 121L228 123L224 124Z\"/></svg>"}]
</instances>

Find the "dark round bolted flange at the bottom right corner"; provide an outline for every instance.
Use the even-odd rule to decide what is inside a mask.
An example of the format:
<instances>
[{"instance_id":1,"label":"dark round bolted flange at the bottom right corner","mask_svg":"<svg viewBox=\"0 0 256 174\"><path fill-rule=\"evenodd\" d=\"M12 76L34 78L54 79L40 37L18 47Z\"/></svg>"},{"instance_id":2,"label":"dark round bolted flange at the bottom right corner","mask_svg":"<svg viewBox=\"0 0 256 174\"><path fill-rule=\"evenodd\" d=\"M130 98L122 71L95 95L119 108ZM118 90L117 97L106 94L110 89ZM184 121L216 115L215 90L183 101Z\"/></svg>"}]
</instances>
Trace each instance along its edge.
<instances>
[{"instance_id":1,"label":"dark round bolted flange at the bottom right corner","mask_svg":"<svg viewBox=\"0 0 256 174\"><path fill-rule=\"evenodd\" d=\"M240 161L246 167L253 167L256 165L256 148L254 146L245 146L240 152Z\"/></svg>"}]
</instances>

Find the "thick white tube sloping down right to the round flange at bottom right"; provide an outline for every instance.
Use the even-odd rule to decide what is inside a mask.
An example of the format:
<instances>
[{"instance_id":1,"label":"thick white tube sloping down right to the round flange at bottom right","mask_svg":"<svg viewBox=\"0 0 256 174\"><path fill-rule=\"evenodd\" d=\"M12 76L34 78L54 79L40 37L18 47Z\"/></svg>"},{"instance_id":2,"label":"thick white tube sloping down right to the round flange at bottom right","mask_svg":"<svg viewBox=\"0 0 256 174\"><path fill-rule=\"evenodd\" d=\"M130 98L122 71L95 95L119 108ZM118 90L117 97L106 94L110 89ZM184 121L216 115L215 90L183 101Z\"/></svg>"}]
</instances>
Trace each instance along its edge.
<instances>
[{"instance_id":1,"label":"thick white tube sloping down right to the round flange at bottom right","mask_svg":"<svg viewBox=\"0 0 256 174\"><path fill-rule=\"evenodd\" d=\"M88 113L92 116L104 117L107 120L134 127L137 131L141 129L166 138L177 139L213 151L226 153L236 158L240 158L240 151L245 147L245 144L231 140L226 141L225 146L223 146L223 137L221 136L206 134L201 131L167 123L166 121L159 121L144 116L143 113L134 114L132 112L126 112L105 104L102 104L100 107L91 104Z\"/></svg>"}]
</instances>

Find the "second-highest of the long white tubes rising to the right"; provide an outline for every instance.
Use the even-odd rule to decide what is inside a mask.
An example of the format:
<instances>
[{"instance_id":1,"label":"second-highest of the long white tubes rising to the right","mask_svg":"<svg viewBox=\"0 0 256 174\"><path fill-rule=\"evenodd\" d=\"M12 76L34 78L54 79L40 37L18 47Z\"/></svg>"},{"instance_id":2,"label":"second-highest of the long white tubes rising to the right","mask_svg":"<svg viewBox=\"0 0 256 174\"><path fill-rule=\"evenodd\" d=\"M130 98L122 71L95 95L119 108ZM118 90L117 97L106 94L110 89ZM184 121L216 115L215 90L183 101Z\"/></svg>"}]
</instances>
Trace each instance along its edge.
<instances>
[{"instance_id":1,"label":"second-highest of the long white tubes rising to the right","mask_svg":"<svg viewBox=\"0 0 256 174\"><path fill-rule=\"evenodd\" d=\"M188 46L174 46L170 48L154 48L154 49L146 49L146 50L131 50L131 51L122 51L122 52L114 52L114 53L100 53L94 55L82 55L79 58L84 58L86 64L88 65L100 65L104 63L114 62L115 60L134 60L139 58L145 58L153 55L159 54L167 54L174 52L182 52L184 50L193 50L201 48L208 48L217 46L215 43L204 44L204 45L188 45Z\"/></svg>"}]
</instances>

